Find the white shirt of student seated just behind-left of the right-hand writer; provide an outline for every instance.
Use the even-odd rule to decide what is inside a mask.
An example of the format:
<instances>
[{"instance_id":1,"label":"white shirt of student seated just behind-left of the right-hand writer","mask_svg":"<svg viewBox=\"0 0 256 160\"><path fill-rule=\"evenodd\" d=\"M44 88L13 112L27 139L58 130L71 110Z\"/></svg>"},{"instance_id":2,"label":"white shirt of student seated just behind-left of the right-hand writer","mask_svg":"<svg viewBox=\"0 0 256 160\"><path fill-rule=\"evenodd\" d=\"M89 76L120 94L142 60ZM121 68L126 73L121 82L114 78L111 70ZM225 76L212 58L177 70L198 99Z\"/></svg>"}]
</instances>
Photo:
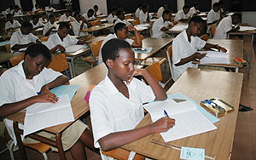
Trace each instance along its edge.
<instances>
[{"instance_id":1,"label":"white shirt of student seated just behind-left of the right-hand writer","mask_svg":"<svg viewBox=\"0 0 256 160\"><path fill-rule=\"evenodd\" d=\"M172 22L170 21L164 21L163 17L160 17L159 19L154 21L154 24L152 26L152 37L165 37L166 32L161 31L162 27L167 27L169 25L172 25Z\"/></svg>"}]
</instances>

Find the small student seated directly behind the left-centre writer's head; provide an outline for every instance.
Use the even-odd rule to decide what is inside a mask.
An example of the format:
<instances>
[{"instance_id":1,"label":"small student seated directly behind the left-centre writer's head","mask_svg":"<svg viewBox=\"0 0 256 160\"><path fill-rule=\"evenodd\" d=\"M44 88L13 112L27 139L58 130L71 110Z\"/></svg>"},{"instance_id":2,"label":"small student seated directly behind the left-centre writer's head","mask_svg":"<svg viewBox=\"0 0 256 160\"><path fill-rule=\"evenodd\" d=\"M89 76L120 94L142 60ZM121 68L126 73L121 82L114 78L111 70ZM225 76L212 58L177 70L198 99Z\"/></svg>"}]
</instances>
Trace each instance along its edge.
<instances>
[{"instance_id":1,"label":"small student seated directly behind the left-centre writer's head","mask_svg":"<svg viewBox=\"0 0 256 160\"><path fill-rule=\"evenodd\" d=\"M55 22L55 16L53 14L49 15L49 22L47 22L44 25L44 31L43 34L44 36L50 36L57 32L58 24Z\"/></svg>"}]
</instances>

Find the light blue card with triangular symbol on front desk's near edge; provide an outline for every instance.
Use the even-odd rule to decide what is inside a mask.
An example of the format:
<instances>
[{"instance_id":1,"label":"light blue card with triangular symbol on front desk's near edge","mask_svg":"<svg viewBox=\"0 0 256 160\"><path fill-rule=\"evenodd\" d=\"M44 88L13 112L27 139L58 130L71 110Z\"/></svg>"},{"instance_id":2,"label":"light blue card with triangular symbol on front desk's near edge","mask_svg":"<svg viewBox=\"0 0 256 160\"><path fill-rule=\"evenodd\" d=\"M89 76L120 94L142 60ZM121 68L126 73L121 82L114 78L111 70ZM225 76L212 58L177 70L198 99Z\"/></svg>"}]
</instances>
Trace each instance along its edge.
<instances>
[{"instance_id":1,"label":"light blue card with triangular symbol on front desk's near edge","mask_svg":"<svg viewBox=\"0 0 256 160\"><path fill-rule=\"evenodd\" d=\"M180 151L180 158L189 160L204 160L205 149L182 146Z\"/></svg>"}]
</instances>

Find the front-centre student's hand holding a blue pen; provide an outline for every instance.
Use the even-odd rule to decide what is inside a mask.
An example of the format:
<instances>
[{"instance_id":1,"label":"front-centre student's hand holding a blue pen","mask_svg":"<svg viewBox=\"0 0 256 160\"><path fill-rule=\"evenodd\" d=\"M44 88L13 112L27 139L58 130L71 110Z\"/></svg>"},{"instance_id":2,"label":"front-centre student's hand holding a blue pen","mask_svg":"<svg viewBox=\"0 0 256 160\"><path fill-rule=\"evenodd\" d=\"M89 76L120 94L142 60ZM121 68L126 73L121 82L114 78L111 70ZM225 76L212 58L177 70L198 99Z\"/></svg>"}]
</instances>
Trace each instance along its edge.
<instances>
[{"instance_id":1,"label":"front-centre student's hand holding a blue pen","mask_svg":"<svg viewBox=\"0 0 256 160\"><path fill-rule=\"evenodd\" d=\"M153 133L166 132L175 125L175 119L169 117L162 117L156 122L152 123Z\"/></svg>"}]
</instances>

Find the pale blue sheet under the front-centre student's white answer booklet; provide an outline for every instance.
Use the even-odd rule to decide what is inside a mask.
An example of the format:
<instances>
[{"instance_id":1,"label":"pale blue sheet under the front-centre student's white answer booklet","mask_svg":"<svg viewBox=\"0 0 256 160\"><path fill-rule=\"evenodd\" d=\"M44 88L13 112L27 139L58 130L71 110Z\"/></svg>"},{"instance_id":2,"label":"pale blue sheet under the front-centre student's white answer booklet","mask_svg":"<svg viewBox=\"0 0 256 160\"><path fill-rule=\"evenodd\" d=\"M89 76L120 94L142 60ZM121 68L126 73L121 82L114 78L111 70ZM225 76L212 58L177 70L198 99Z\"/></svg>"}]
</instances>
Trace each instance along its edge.
<instances>
[{"instance_id":1,"label":"pale blue sheet under the front-centre student's white answer booklet","mask_svg":"<svg viewBox=\"0 0 256 160\"><path fill-rule=\"evenodd\" d=\"M168 95L168 99L183 99L183 100L190 100L192 101L195 106L197 107L197 109L199 111L201 111L201 113L207 117L212 123L217 123L218 121L220 121L220 119L218 119L218 117L214 117L211 113L209 113L208 111L206 111L203 107L199 106L195 100L190 99L189 97L185 96L182 93L177 93L177 94L170 94Z\"/></svg>"}]
</instances>

